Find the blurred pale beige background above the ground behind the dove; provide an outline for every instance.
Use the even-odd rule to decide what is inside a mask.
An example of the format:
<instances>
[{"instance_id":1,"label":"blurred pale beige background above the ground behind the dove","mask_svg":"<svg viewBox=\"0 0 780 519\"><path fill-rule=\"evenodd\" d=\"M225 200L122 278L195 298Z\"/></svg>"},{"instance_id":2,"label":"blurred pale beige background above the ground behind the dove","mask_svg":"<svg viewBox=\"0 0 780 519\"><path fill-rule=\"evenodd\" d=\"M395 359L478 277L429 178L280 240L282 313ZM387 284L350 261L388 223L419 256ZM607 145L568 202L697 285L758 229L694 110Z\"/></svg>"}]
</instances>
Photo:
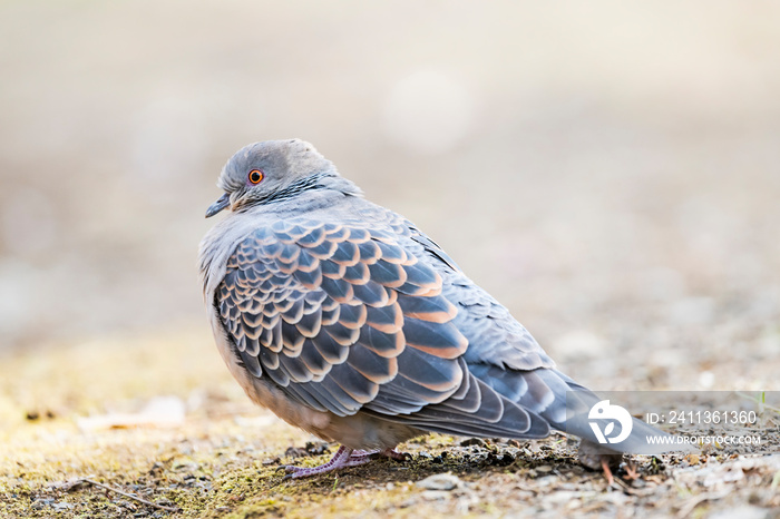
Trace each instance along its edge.
<instances>
[{"instance_id":1,"label":"blurred pale beige background above the ground behind the dove","mask_svg":"<svg viewBox=\"0 0 780 519\"><path fill-rule=\"evenodd\" d=\"M220 169L300 137L581 381L780 389L779 17L2 1L0 354L209 342L195 261Z\"/></svg>"}]
</instances>

